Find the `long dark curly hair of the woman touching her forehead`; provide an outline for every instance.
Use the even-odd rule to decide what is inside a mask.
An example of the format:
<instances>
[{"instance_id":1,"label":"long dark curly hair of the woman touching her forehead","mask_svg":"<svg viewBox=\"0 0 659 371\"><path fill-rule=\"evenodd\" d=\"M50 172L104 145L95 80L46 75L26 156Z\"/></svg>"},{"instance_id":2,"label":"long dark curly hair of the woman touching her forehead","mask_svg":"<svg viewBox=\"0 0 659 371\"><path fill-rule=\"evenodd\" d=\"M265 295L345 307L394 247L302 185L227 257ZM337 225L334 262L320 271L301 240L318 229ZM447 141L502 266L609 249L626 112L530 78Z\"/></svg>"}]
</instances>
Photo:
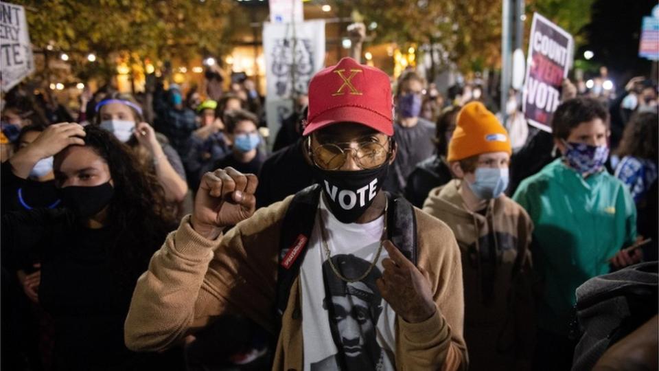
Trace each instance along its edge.
<instances>
[{"instance_id":1,"label":"long dark curly hair of the woman touching her forehead","mask_svg":"<svg viewBox=\"0 0 659 371\"><path fill-rule=\"evenodd\" d=\"M174 216L165 205L165 192L151 172L112 133L86 126L84 145L108 164L114 196L106 226L116 236L111 258L117 273L128 283L141 274L148 260L164 242L174 225Z\"/></svg>"}]
</instances>

